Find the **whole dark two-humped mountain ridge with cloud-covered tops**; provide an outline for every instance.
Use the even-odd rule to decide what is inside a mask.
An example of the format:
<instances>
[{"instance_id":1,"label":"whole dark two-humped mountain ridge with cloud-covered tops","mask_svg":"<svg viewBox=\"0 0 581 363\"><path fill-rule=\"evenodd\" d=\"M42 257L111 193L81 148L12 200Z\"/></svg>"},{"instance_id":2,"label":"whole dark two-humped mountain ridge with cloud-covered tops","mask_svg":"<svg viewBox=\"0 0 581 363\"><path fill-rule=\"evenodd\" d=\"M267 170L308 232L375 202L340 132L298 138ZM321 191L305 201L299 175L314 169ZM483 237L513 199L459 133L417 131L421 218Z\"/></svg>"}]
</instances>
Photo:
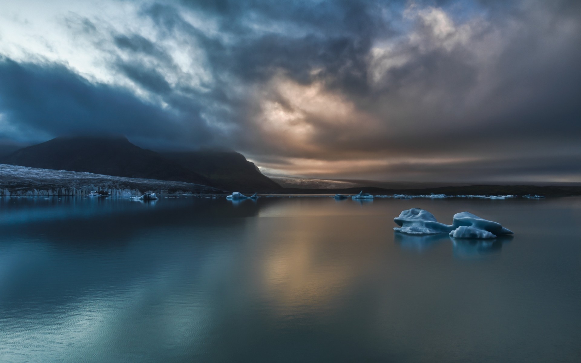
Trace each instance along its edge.
<instances>
[{"instance_id":1,"label":"whole dark two-humped mountain ridge with cloud-covered tops","mask_svg":"<svg viewBox=\"0 0 581 363\"><path fill-rule=\"evenodd\" d=\"M161 154L139 148L122 135L59 136L0 157L0 164L188 182L226 191L281 189L240 153L200 150Z\"/></svg>"}]
</instances>

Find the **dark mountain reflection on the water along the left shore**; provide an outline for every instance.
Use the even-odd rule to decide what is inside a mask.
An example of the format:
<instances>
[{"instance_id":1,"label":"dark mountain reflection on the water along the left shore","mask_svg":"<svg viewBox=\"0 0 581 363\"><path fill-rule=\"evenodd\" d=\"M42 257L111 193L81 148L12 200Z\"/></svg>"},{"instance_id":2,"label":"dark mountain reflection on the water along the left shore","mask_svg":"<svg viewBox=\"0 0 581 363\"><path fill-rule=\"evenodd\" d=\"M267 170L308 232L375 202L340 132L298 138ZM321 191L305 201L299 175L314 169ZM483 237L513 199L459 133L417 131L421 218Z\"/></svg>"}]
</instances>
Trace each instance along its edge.
<instances>
[{"instance_id":1,"label":"dark mountain reflection on the water along the left shore","mask_svg":"<svg viewBox=\"0 0 581 363\"><path fill-rule=\"evenodd\" d=\"M55 243L71 243L78 247L92 243L119 245L147 229L220 224L224 222L223 218L229 225L241 224L245 217L256 216L260 207L279 201L278 198L269 198L258 204L252 200L231 203L224 198L183 196L145 201L130 198L0 197L0 228L5 236L43 235Z\"/></svg>"}]
</instances>

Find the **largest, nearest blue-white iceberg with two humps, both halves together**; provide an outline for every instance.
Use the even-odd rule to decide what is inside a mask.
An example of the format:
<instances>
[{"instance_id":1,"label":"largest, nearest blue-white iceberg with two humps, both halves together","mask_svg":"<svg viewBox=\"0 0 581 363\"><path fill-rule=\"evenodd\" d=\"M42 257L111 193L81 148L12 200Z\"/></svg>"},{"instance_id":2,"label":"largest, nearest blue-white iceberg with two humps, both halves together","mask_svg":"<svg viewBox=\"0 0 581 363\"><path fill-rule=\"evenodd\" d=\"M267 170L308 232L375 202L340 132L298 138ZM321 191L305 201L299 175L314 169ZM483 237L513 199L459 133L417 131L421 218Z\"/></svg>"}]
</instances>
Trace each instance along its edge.
<instances>
[{"instance_id":1,"label":"largest, nearest blue-white iceberg with two humps, both halves together","mask_svg":"<svg viewBox=\"0 0 581 363\"><path fill-rule=\"evenodd\" d=\"M400 227L394 231L408 235L433 235L449 233L454 238L489 239L500 235L512 235L510 229L500 223L488 221L468 212L454 214L451 225L436 221L432 213L420 208L404 210L393 219Z\"/></svg>"}]
</instances>

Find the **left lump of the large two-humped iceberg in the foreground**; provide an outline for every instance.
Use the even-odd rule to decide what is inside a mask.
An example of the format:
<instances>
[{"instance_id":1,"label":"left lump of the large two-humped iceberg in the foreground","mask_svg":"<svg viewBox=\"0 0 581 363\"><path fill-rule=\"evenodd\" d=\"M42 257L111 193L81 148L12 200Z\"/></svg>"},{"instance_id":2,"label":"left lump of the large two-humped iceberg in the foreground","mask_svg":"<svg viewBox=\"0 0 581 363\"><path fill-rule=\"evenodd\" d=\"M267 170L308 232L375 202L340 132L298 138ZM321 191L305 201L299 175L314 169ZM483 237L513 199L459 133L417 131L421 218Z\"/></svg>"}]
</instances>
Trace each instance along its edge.
<instances>
[{"instance_id":1,"label":"left lump of the large two-humped iceberg in the foreground","mask_svg":"<svg viewBox=\"0 0 581 363\"><path fill-rule=\"evenodd\" d=\"M407 233L408 235L435 235L436 233L449 233L454 228L451 225L436 221L436 217L429 211L421 208L404 210L399 217L393 218L401 228L393 228L394 231Z\"/></svg>"}]
</instances>

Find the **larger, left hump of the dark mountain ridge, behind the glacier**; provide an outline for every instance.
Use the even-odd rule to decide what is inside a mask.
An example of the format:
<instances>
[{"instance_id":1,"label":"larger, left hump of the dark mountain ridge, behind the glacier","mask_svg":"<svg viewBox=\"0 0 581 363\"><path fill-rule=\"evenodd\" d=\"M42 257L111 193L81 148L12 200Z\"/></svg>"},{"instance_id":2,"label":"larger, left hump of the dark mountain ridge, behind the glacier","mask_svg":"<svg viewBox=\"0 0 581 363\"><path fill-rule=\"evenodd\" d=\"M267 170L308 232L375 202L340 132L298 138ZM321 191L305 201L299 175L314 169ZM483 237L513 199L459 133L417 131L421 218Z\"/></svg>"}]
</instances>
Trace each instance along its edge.
<instances>
[{"instance_id":1,"label":"larger, left hump of the dark mountain ridge, behind the glacier","mask_svg":"<svg viewBox=\"0 0 581 363\"><path fill-rule=\"evenodd\" d=\"M214 186L206 177L123 136L60 136L17 150L0 158L0 163Z\"/></svg>"}]
</instances>

